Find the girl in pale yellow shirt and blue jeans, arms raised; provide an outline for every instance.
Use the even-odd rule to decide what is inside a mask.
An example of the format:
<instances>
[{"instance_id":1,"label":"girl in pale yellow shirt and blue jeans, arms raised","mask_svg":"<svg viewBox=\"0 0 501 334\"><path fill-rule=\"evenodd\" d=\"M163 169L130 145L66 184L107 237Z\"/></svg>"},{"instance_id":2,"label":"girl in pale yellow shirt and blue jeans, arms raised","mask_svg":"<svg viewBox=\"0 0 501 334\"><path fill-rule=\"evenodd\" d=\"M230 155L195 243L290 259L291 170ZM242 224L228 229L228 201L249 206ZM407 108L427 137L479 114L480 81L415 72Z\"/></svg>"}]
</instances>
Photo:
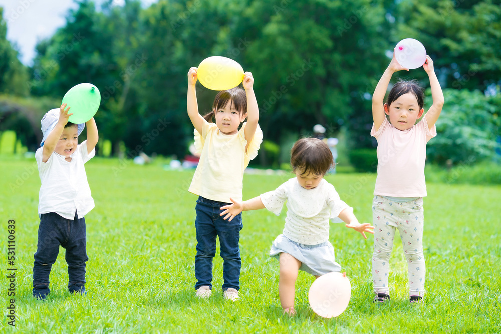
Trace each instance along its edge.
<instances>
[{"instance_id":1,"label":"girl in pale yellow shirt and blue jeans, arms raised","mask_svg":"<svg viewBox=\"0 0 501 334\"><path fill-rule=\"evenodd\" d=\"M207 298L212 289L212 259L219 237L223 258L222 285L224 298L236 300L240 289L240 249L238 241L242 229L241 214L231 222L219 214L220 207L231 203L231 198L242 199L243 171L258 154L263 140L258 120L258 102L253 90L254 78L245 72L243 89L235 87L219 92L212 111L205 116L198 113L195 84L197 68L188 72L188 116L195 127L195 148L200 161L193 175L189 192L198 195L196 201L196 296ZM241 123L244 122L240 129ZM215 120L215 123L213 123Z\"/></svg>"}]
</instances>

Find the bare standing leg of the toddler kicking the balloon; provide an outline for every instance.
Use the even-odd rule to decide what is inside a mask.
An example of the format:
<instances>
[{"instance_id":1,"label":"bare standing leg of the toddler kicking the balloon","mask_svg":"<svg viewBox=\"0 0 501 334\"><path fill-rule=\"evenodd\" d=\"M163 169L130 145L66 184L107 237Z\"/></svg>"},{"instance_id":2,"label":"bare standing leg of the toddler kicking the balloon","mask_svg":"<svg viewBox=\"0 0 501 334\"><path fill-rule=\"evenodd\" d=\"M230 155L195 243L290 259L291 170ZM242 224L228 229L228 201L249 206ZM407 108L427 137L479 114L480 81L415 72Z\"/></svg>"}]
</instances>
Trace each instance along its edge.
<instances>
[{"instance_id":1,"label":"bare standing leg of the toddler kicking the balloon","mask_svg":"<svg viewBox=\"0 0 501 334\"><path fill-rule=\"evenodd\" d=\"M287 253L280 253L279 296L284 313L294 315L294 295L296 279L301 262Z\"/></svg>"}]
</instances>

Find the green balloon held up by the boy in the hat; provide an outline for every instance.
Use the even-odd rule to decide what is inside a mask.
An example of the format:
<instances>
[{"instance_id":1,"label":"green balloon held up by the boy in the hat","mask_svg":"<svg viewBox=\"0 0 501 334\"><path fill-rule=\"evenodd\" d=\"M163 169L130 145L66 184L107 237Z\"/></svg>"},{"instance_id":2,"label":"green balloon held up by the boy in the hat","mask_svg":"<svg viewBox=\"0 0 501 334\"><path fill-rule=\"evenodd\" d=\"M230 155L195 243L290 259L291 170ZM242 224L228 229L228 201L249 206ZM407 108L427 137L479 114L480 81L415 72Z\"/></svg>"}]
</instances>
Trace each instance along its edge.
<instances>
[{"instance_id":1,"label":"green balloon held up by the boy in the hat","mask_svg":"<svg viewBox=\"0 0 501 334\"><path fill-rule=\"evenodd\" d=\"M80 124L89 121L96 114L101 104L101 93L96 86L89 83L78 84L70 88L61 103L71 107L68 122Z\"/></svg>"}]
</instances>

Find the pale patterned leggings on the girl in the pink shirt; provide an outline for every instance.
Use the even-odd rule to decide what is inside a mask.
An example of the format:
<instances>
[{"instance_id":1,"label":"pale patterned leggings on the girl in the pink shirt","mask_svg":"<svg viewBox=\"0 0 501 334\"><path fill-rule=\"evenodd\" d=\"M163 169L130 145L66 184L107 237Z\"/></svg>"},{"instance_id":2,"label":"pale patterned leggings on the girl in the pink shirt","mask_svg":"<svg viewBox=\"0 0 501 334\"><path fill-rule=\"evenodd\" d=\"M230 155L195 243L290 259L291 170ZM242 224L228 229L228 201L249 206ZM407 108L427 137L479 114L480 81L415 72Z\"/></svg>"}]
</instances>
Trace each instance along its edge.
<instances>
[{"instance_id":1,"label":"pale patterned leggings on the girl in the pink shirt","mask_svg":"<svg viewBox=\"0 0 501 334\"><path fill-rule=\"evenodd\" d=\"M398 229L409 272L409 295L424 295L426 267L423 255L423 198L399 203L376 195L372 201L374 293L389 294L388 272L393 237Z\"/></svg>"}]
</instances>

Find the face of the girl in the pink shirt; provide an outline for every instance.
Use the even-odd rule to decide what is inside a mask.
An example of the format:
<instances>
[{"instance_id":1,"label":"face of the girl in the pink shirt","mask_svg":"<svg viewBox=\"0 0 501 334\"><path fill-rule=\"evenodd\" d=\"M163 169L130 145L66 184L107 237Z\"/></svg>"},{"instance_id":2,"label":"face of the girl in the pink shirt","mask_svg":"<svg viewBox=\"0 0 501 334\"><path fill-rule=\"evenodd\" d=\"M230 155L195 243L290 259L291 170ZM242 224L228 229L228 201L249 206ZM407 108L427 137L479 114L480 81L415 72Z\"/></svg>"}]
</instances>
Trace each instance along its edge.
<instances>
[{"instance_id":1,"label":"face of the girl in the pink shirt","mask_svg":"<svg viewBox=\"0 0 501 334\"><path fill-rule=\"evenodd\" d=\"M390 115L391 125L403 131L412 128L424 109L419 109L416 96L409 92L400 95L389 107L385 104L384 111Z\"/></svg>"}]
</instances>

